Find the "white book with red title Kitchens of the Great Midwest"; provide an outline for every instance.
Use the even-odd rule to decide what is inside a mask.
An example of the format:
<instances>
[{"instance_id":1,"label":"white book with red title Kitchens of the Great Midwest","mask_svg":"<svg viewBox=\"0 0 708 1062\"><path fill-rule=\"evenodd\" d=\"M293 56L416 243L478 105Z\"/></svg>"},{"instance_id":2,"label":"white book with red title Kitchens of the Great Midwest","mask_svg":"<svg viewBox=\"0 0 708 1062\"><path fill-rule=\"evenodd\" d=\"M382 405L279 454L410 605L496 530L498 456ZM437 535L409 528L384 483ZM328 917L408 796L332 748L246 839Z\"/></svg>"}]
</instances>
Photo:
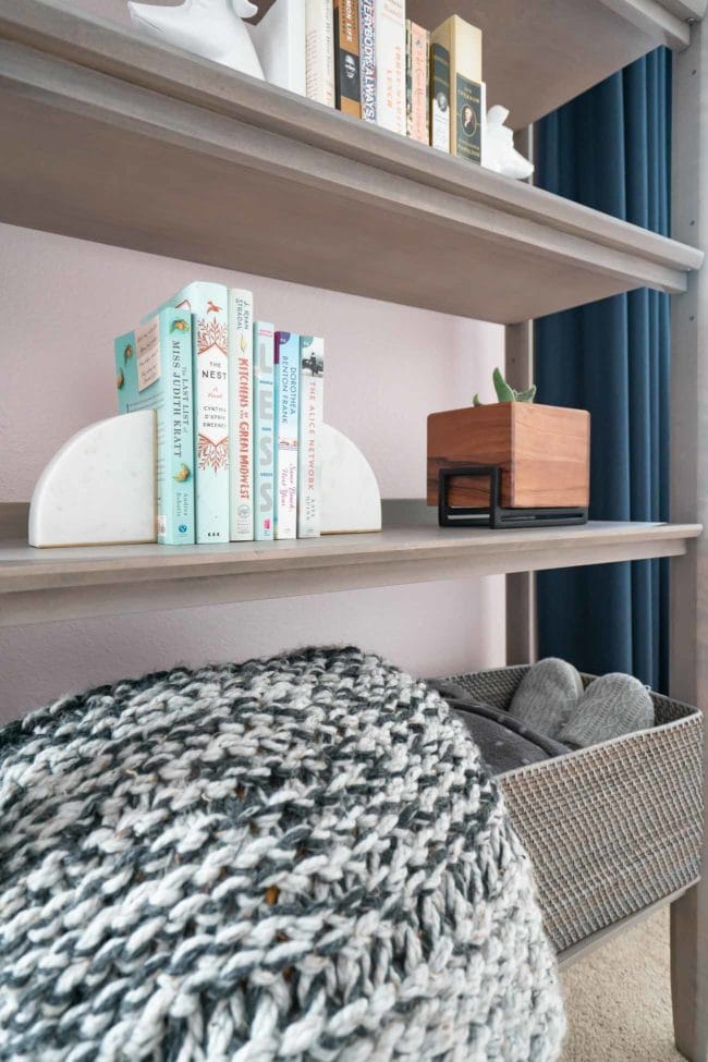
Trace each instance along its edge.
<instances>
[{"instance_id":1,"label":"white book with red title Kitchens of the Great Midwest","mask_svg":"<svg viewBox=\"0 0 708 1062\"><path fill-rule=\"evenodd\" d=\"M229 291L229 522L232 542L254 537L253 293Z\"/></svg>"}]
</instances>

